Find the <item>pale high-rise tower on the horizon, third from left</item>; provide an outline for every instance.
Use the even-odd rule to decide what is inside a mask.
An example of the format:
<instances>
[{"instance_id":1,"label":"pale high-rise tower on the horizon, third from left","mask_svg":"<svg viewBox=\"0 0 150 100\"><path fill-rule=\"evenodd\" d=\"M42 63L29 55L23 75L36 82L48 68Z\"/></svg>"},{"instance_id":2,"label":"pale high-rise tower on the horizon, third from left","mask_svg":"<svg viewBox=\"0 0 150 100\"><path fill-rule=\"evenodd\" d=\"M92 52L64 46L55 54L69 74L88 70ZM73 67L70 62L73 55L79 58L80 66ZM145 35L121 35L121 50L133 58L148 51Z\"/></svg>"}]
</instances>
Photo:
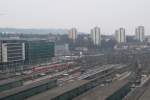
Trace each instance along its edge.
<instances>
[{"instance_id":1,"label":"pale high-rise tower on the horizon, third from left","mask_svg":"<svg viewBox=\"0 0 150 100\"><path fill-rule=\"evenodd\" d=\"M115 31L116 40L118 43L124 43L126 42L126 35L125 35L125 29L119 28Z\"/></svg>"}]
</instances>

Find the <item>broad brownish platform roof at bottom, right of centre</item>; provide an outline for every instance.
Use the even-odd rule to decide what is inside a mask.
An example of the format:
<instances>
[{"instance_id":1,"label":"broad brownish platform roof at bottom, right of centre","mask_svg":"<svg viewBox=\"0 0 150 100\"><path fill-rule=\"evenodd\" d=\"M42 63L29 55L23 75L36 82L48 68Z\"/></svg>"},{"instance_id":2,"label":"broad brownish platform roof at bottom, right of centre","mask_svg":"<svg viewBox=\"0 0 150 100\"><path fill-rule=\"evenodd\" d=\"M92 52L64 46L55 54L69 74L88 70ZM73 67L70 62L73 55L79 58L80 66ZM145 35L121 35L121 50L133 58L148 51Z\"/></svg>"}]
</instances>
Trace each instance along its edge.
<instances>
[{"instance_id":1,"label":"broad brownish platform roof at bottom, right of centre","mask_svg":"<svg viewBox=\"0 0 150 100\"><path fill-rule=\"evenodd\" d=\"M74 98L73 100L105 100L111 96L115 91L128 83L128 78L122 80L115 80L105 86L97 86L82 95Z\"/></svg>"}]
</instances>

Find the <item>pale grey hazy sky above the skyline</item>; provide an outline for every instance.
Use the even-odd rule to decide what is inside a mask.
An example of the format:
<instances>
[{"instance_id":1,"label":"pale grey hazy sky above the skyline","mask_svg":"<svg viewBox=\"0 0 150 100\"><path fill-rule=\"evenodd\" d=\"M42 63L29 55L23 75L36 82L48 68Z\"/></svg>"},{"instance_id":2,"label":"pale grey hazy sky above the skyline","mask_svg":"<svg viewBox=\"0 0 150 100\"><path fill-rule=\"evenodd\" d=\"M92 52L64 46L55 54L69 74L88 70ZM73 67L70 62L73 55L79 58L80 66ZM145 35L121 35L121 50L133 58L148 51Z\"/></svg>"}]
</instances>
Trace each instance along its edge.
<instances>
[{"instance_id":1,"label":"pale grey hazy sky above the skyline","mask_svg":"<svg viewBox=\"0 0 150 100\"><path fill-rule=\"evenodd\" d=\"M150 0L0 0L0 27L89 32L99 26L103 34L125 27L134 34L138 25L150 35Z\"/></svg>"}]
</instances>

